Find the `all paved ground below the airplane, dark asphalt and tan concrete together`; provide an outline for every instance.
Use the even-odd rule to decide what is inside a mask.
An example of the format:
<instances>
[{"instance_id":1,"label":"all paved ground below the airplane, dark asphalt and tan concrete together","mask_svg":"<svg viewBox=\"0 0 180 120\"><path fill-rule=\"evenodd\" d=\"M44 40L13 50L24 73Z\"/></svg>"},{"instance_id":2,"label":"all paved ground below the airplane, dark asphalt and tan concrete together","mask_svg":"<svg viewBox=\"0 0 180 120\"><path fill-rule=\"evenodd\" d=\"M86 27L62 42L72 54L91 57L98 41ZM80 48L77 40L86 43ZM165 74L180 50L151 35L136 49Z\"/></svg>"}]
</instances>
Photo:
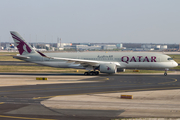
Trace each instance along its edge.
<instances>
[{"instance_id":1,"label":"all paved ground below the airplane, dark asphalt and tan concrete together","mask_svg":"<svg viewBox=\"0 0 180 120\"><path fill-rule=\"evenodd\" d=\"M35 77L45 76L47 81ZM0 74L0 118L180 117L180 74ZM120 99L131 94L134 99Z\"/></svg>"}]
</instances>

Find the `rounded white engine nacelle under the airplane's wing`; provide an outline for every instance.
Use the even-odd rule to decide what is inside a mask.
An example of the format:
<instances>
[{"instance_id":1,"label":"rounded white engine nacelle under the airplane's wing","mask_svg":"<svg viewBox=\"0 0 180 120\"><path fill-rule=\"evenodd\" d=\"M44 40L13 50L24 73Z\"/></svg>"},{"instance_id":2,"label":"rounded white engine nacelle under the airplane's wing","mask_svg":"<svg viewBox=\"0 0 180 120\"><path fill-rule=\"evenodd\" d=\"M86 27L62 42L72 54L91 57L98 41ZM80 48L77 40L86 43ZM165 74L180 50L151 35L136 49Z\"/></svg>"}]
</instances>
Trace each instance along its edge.
<instances>
[{"instance_id":1,"label":"rounded white engine nacelle under the airplane's wing","mask_svg":"<svg viewBox=\"0 0 180 120\"><path fill-rule=\"evenodd\" d=\"M104 63L100 64L99 71L101 73L116 73L117 67L114 63Z\"/></svg>"}]
</instances>

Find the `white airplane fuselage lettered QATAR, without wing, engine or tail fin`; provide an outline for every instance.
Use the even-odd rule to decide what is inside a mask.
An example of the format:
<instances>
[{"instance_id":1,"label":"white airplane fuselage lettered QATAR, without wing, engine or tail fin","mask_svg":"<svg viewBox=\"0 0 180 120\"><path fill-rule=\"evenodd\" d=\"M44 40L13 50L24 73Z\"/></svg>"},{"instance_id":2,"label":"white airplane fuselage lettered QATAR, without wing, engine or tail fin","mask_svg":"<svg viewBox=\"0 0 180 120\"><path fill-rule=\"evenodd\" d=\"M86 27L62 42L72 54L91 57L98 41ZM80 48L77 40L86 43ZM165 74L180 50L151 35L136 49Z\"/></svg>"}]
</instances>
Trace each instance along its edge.
<instances>
[{"instance_id":1,"label":"white airplane fuselage lettered QATAR, without wing, engine or tail fin","mask_svg":"<svg viewBox=\"0 0 180 120\"><path fill-rule=\"evenodd\" d=\"M74 53L46 53L49 57L83 59L99 62L113 62L118 68L173 68L178 64L171 57L161 53L138 53L138 52L74 52ZM31 56L29 62L60 68L85 68L78 63L68 63L64 60L55 60L41 56Z\"/></svg>"}]
</instances>

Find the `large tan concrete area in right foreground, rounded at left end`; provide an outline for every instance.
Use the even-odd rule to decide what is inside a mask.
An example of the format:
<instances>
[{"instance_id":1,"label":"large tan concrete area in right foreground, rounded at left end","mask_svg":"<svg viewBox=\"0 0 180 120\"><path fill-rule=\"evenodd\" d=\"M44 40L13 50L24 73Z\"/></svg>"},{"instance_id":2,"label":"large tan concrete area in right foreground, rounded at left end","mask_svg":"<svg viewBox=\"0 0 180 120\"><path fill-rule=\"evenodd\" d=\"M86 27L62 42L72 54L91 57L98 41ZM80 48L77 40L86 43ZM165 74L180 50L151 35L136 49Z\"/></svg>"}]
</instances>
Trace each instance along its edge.
<instances>
[{"instance_id":1,"label":"large tan concrete area in right foreground, rounded at left end","mask_svg":"<svg viewBox=\"0 0 180 120\"><path fill-rule=\"evenodd\" d=\"M122 94L133 95L133 99L121 99ZM118 117L180 117L179 100L180 90L177 89L58 96L42 101L41 104L61 113L66 110L66 114L67 110L110 110L116 111L116 114L119 111ZM84 112L83 116L88 114ZM76 115L81 114L76 112ZM98 116L98 112L95 116Z\"/></svg>"}]
</instances>

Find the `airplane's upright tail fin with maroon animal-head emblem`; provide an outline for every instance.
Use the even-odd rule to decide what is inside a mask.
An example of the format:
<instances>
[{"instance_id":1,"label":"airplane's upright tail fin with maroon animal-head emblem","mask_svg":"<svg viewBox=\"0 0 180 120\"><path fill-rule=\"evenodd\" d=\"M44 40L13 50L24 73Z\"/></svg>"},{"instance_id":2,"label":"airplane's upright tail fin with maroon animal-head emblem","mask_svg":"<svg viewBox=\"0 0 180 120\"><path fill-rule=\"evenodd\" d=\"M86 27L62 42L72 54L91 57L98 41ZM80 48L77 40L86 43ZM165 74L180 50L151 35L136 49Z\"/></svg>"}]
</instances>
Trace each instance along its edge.
<instances>
[{"instance_id":1,"label":"airplane's upright tail fin with maroon animal-head emblem","mask_svg":"<svg viewBox=\"0 0 180 120\"><path fill-rule=\"evenodd\" d=\"M15 31L10 31L10 33L11 33L12 38L14 40L15 46L19 50L20 55L36 53L36 51L34 51L34 49L32 49L31 45L26 43L26 41L19 35L19 33L15 32Z\"/></svg>"}]
</instances>

